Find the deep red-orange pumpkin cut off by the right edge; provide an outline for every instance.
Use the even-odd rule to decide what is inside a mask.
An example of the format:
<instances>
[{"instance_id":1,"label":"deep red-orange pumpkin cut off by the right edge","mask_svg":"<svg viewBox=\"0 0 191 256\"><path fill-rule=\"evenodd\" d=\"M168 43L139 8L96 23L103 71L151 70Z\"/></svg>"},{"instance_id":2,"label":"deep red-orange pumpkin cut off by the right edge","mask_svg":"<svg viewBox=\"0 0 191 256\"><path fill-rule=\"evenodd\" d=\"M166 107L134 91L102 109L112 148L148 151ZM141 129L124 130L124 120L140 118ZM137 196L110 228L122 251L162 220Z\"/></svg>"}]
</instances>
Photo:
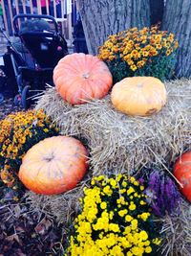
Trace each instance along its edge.
<instances>
[{"instance_id":1,"label":"deep red-orange pumpkin cut off by the right edge","mask_svg":"<svg viewBox=\"0 0 191 256\"><path fill-rule=\"evenodd\" d=\"M173 174L182 185L181 193L191 202L191 151L184 152L177 159Z\"/></svg>"}]
</instances>

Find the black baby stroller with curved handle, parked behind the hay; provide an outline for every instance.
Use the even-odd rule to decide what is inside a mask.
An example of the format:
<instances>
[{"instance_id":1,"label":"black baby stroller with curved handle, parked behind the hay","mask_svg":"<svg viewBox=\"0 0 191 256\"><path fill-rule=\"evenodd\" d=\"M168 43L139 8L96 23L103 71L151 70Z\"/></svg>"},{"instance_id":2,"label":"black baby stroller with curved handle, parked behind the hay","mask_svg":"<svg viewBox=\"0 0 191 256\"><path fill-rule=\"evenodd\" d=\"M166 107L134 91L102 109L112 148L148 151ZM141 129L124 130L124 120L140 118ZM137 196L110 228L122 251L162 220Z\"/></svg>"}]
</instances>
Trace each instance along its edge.
<instances>
[{"instance_id":1,"label":"black baby stroller with curved handle, parked behind the hay","mask_svg":"<svg viewBox=\"0 0 191 256\"><path fill-rule=\"evenodd\" d=\"M13 18L13 27L14 35L20 38L11 45L18 86L14 103L27 109L47 83L53 84L53 68L68 54L67 42L50 15L18 14Z\"/></svg>"}]
</instances>

